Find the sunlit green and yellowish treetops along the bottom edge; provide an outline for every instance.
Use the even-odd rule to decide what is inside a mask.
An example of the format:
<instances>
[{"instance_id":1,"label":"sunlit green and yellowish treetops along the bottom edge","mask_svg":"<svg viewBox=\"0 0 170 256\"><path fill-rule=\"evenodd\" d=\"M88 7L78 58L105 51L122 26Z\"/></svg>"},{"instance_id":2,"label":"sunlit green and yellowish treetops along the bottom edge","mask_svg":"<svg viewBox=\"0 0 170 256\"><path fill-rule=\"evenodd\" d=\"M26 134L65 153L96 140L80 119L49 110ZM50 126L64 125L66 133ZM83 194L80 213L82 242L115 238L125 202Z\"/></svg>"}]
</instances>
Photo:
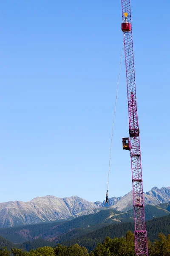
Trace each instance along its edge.
<instances>
[{"instance_id":1,"label":"sunlit green and yellowish treetops along the bottom edge","mask_svg":"<svg viewBox=\"0 0 170 256\"><path fill-rule=\"evenodd\" d=\"M170 256L170 235L160 233L159 238L151 243L148 240L150 256ZM104 243L98 243L94 250L88 252L87 248L79 244L68 247L58 244L56 247L39 247L36 250L25 252L22 249L0 248L0 256L135 256L134 235L128 231L125 237L111 239L107 237Z\"/></svg>"}]
</instances>

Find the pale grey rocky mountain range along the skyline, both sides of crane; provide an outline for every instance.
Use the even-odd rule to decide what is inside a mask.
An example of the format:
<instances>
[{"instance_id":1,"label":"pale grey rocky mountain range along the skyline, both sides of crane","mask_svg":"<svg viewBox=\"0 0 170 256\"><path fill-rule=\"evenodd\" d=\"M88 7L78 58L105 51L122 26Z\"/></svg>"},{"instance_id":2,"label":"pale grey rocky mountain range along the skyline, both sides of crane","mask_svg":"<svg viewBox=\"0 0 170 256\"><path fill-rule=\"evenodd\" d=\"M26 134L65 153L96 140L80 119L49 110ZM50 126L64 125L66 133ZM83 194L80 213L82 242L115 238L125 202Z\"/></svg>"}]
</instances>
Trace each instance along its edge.
<instances>
[{"instance_id":1,"label":"pale grey rocky mountain range along the skyline, both sides of crane","mask_svg":"<svg viewBox=\"0 0 170 256\"><path fill-rule=\"evenodd\" d=\"M157 205L170 202L170 187L158 189L153 187L144 193L145 204ZM95 203L78 196L57 198L47 195L37 197L29 202L10 201L0 203L0 227L13 227L23 224L35 224L97 213L102 209L114 209L126 212L133 208L132 191L123 197L109 198L109 208L105 201Z\"/></svg>"}]
</instances>

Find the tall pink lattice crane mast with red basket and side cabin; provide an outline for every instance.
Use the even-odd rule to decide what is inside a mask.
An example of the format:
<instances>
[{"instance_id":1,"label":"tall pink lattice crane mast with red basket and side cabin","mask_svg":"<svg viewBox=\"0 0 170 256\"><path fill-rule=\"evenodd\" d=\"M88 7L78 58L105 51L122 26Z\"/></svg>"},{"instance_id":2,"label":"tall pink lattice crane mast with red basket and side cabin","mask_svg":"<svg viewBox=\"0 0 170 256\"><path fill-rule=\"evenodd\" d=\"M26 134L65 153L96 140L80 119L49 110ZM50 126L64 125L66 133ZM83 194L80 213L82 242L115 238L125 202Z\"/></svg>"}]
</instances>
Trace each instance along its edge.
<instances>
[{"instance_id":1,"label":"tall pink lattice crane mast with red basket and side cabin","mask_svg":"<svg viewBox=\"0 0 170 256\"><path fill-rule=\"evenodd\" d=\"M129 137L123 138L123 149L130 151L133 207L135 219L135 250L137 256L148 256L147 231L144 218L144 196L142 181L141 150L139 139L139 123L136 105L136 84L133 57L133 37L130 0L122 0L122 31L124 33L125 64L127 80L127 100L129 111Z\"/></svg>"}]
</instances>

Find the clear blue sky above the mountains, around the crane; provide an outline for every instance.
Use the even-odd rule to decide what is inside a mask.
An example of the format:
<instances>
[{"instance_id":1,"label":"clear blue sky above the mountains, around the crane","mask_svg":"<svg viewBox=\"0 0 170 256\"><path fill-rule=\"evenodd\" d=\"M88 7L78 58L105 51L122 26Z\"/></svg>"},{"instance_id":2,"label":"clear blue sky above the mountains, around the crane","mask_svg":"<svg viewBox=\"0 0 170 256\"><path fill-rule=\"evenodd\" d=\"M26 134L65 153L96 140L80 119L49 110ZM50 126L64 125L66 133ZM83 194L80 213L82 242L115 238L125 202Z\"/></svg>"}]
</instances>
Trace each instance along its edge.
<instances>
[{"instance_id":1,"label":"clear blue sky above the mountains, around the crane","mask_svg":"<svg viewBox=\"0 0 170 256\"><path fill-rule=\"evenodd\" d=\"M170 1L131 0L144 191L170 186ZM121 0L0 6L0 202L103 201L123 34ZM132 189L123 56L109 197Z\"/></svg>"}]
</instances>

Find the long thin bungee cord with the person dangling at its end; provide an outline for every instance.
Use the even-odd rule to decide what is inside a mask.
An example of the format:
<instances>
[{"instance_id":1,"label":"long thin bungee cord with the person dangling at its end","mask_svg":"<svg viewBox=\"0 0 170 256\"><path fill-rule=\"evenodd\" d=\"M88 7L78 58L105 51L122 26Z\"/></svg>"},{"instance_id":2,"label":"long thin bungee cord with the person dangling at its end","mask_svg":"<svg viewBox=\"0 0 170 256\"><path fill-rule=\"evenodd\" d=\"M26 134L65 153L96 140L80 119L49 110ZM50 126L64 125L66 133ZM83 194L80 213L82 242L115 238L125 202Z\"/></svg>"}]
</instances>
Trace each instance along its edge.
<instances>
[{"instance_id":1,"label":"long thin bungee cord with the person dangling at its end","mask_svg":"<svg viewBox=\"0 0 170 256\"><path fill-rule=\"evenodd\" d=\"M119 77L118 77L117 90L116 90L116 100L115 100L115 105L114 105L114 115L113 115L113 125L112 125L112 136L111 136L111 150L112 150L114 120L115 120L115 113L116 113L117 93L118 93L118 88L119 88L119 78L120 78L120 71L121 71L121 66L122 66L122 56L123 56L124 38L125 38L125 35L124 35L124 37L123 37L122 55L121 55L121 61L120 61L120 67L119 67ZM109 187L110 166L111 166L111 151L110 151L110 158L109 158L108 187ZM108 188L107 188L107 192L106 192L106 202L105 202L105 203L109 203L109 202L108 202Z\"/></svg>"}]
</instances>

